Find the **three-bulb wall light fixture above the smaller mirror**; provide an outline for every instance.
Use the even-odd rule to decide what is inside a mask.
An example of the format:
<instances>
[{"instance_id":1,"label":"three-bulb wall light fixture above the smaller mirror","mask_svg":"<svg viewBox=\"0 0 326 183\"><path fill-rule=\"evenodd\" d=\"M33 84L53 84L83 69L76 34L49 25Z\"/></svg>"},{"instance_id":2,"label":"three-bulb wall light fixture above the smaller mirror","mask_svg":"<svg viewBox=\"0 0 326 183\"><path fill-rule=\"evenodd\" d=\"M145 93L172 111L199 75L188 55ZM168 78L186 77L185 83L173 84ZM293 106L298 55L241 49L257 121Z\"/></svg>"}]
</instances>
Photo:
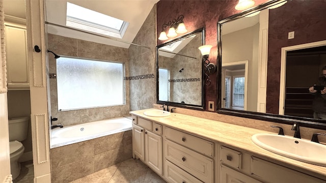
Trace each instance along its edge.
<instances>
[{"instance_id":1,"label":"three-bulb wall light fixture above the smaller mirror","mask_svg":"<svg viewBox=\"0 0 326 183\"><path fill-rule=\"evenodd\" d=\"M169 28L168 35L165 32L166 28ZM159 40L168 40L169 38L174 38L178 34L183 34L186 33L187 29L185 28L184 22L183 22L183 15L180 15L178 18L173 19L172 21L169 21L168 24L163 24L162 25L162 32L159 35ZM169 38L168 38L169 37Z\"/></svg>"}]
</instances>

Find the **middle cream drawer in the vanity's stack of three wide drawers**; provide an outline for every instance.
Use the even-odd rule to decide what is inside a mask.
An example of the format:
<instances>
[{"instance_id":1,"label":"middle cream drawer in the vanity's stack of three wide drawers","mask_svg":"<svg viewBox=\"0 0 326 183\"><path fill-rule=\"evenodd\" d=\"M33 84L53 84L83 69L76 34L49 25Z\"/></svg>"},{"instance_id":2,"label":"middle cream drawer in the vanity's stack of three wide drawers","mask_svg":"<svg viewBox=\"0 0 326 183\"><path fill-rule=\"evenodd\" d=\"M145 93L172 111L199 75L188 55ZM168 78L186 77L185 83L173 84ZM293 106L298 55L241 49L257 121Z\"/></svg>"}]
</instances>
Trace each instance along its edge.
<instances>
[{"instance_id":1,"label":"middle cream drawer in the vanity's stack of three wide drawers","mask_svg":"<svg viewBox=\"0 0 326 183\"><path fill-rule=\"evenodd\" d=\"M212 159L170 140L165 142L167 160L206 183L213 182L214 162Z\"/></svg>"}]
</instances>

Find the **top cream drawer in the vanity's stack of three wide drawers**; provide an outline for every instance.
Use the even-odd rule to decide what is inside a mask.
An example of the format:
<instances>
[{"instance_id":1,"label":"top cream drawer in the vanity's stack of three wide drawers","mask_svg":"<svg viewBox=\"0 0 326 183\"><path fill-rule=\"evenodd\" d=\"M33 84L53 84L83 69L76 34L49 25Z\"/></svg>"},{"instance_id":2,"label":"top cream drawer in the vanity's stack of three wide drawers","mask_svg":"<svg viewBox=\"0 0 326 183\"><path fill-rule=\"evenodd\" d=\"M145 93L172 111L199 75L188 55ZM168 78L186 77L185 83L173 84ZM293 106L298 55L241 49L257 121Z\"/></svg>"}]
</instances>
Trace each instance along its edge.
<instances>
[{"instance_id":1,"label":"top cream drawer in the vanity's stack of three wide drawers","mask_svg":"<svg viewBox=\"0 0 326 183\"><path fill-rule=\"evenodd\" d=\"M189 135L171 128L165 128L165 136L167 139L174 141L178 144L194 149L203 155L213 157L214 143L204 140L193 135Z\"/></svg>"}]
</instances>

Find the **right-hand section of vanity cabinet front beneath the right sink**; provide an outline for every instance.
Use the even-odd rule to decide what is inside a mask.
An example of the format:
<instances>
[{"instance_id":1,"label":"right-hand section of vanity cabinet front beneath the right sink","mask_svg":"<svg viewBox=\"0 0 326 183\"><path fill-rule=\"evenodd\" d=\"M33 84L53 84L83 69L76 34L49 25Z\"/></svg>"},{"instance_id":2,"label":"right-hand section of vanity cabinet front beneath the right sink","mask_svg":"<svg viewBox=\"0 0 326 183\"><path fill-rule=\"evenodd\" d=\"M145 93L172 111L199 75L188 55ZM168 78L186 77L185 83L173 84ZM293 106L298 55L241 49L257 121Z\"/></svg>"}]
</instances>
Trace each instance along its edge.
<instances>
[{"instance_id":1,"label":"right-hand section of vanity cabinet front beneath the right sink","mask_svg":"<svg viewBox=\"0 0 326 183\"><path fill-rule=\"evenodd\" d=\"M302 172L220 146L220 183L326 183Z\"/></svg>"}]
</instances>

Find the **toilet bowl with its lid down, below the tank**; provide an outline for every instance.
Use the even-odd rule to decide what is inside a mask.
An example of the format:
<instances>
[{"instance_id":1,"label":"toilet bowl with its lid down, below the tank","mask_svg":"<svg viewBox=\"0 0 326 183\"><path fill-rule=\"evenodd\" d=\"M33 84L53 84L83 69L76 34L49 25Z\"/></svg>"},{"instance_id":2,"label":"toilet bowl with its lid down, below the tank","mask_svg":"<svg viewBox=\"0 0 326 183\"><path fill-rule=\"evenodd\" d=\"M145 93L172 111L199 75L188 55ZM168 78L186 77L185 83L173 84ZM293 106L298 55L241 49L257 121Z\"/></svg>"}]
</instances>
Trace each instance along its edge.
<instances>
[{"instance_id":1,"label":"toilet bowl with its lid down, below the tank","mask_svg":"<svg viewBox=\"0 0 326 183\"><path fill-rule=\"evenodd\" d=\"M18 142L17 140L9 142L10 148L10 171L12 174L12 178L15 179L18 177L20 173L20 163L18 159L24 153L24 146L22 143Z\"/></svg>"}]
</instances>

